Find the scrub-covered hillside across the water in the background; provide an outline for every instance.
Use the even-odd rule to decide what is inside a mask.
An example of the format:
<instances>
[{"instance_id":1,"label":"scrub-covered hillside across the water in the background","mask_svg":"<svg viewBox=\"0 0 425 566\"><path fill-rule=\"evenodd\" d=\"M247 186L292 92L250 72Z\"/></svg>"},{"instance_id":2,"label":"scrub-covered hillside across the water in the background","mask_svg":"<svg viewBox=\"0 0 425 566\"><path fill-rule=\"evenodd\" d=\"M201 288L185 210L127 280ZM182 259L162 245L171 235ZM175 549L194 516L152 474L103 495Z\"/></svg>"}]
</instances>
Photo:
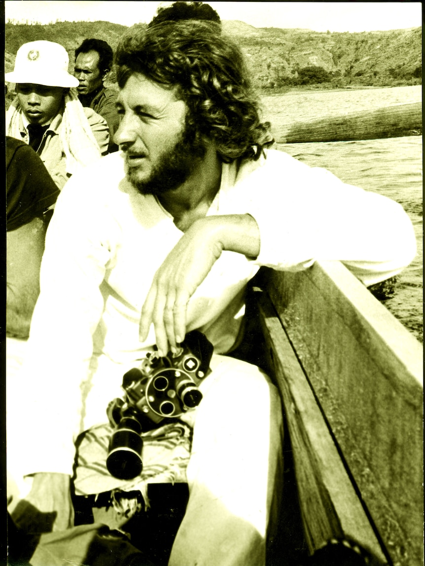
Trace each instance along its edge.
<instances>
[{"instance_id":1,"label":"scrub-covered hillside across the water in the background","mask_svg":"<svg viewBox=\"0 0 425 566\"><path fill-rule=\"evenodd\" d=\"M141 24L143 25L143 24ZM129 28L109 22L57 22L5 25L5 69L12 70L19 46L45 39L74 50L86 37L108 41L113 49ZM271 92L300 85L420 84L422 29L386 32L319 33L308 29L255 28L224 21L223 30L240 45L257 87Z\"/></svg>"}]
</instances>

